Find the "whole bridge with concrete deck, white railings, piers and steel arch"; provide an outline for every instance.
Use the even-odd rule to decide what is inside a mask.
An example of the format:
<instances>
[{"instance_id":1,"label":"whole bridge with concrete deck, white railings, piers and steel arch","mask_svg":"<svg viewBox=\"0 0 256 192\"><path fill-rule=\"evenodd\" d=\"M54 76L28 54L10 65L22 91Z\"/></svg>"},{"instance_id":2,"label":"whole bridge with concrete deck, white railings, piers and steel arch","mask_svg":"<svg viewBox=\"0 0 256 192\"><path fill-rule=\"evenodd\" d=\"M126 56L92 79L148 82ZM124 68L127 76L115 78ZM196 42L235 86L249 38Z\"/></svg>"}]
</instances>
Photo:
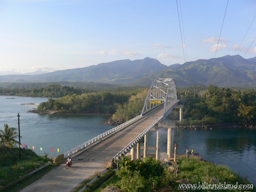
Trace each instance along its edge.
<instances>
[{"instance_id":1,"label":"whole bridge with concrete deck, white railings, piers and steel arch","mask_svg":"<svg viewBox=\"0 0 256 192\"><path fill-rule=\"evenodd\" d=\"M179 107L176 85L172 78L156 79L148 91L142 112L139 116L121 124L76 148L61 154L59 157L72 157L72 167L66 164L46 173L41 179L27 186L22 192L29 191L73 191L81 182L102 172L106 166L120 157L131 153L132 159L140 159L140 144L144 143L143 157L148 155L147 133L160 121L165 119L173 108ZM182 117L182 107L180 107ZM173 152L173 134L168 128L167 154ZM157 131L156 159L159 159L159 133ZM137 147L137 156L135 146Z\"/></svg>"}]
</instances>

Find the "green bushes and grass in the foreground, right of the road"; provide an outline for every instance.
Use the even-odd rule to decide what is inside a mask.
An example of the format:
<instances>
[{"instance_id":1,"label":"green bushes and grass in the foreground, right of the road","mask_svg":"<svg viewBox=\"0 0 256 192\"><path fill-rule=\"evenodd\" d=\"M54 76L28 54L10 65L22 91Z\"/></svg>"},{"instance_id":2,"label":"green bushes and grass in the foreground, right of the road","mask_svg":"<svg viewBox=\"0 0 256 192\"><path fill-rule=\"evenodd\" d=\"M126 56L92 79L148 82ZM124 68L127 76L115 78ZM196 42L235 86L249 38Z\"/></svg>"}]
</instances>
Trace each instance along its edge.
<instances>
[{"instance_id":1,"label":"green bushes and grass in the foreground, right of the road","mask_svg":"<svg viewBox=\"0 0 256 192\"><path fill-rule=\"evenodd\" d=\"M118 166L119 171L107 183L124 192L181 191L178 190L180 183L176 182L181 179L188 180L191 184L198 184L198 182L210 184L211 178L214 177L223 184L224 182L233 185L236 182L249 184L246 179L236 175L227 166L215 165L196 158L180 158L177 160L177 164L172 165L172 169L170 169L169 165L161 164L153 157L146 158L144 161L138 159L132 161L124 156ZM175 167L178 168L177 173ZM105 184L97 191L101 191L104 187L106 187ZM162 189L159 190L160 188Z\"/></svg>"}]
</instances>

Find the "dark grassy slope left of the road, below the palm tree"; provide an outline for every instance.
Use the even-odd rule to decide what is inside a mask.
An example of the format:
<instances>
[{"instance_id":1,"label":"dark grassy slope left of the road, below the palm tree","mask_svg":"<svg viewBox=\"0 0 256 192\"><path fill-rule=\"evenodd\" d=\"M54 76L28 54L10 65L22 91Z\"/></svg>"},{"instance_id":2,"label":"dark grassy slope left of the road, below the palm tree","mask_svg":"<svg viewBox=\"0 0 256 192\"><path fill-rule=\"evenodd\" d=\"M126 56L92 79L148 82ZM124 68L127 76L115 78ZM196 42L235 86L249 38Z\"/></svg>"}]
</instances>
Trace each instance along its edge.
<instances>
[{"instance_id":1,"label":"dark grassy slope left of the road, below the palm tree","mask_svg":"<svg viewBox=\"0 0 256 192\"><path fill-rule=\"evenodd\" d=\"M30 171L35 170L36 168L39 168L40 166L48 163L49 161L51 161L51 159L47 158L46 155L38 156L31 149L21 149L21 159L19 159L19 148L0 148L0 178L2 180L0 182L0 186L5 186L11 183L12 181L19 179L20 177L28 174L29 169ZM38 163L42 165L38 165ZM35 181L36 178L39 179L46 172L51 170L54 166L57 165L49 165L43 168L42 170L39 170L38 172L34 173L32 177L29 176L28 178L20 181L19 183L25 183L26 180ZM21 167L24 167L25 169L20 170ZM19 183L17 184L20 185ZM17 184L15 185L17 186Z\"/></svg>"}]
</instances>

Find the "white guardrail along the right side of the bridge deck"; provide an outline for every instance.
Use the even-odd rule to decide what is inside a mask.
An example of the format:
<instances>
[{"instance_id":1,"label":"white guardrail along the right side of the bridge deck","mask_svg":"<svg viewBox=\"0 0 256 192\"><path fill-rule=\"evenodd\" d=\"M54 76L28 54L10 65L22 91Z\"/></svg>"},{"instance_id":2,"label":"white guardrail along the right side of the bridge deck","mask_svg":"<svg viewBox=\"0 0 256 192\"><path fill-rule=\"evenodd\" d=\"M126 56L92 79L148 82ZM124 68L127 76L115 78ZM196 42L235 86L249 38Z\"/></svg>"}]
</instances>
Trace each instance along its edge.
<instances>
[{"instance_id":1,"label":"white guardrail along the right side of the bridge deck","mask_svg":"<svg viewBox=\"0 0 256 192\"><path fill-rule=\"evenodd\" d=\"M163 115L160 116L158 119L156 119L156 121L154 121L154 123L152 123L151 125L148 126L147 129L145 129L142 133L140 133L134 140L132 140L128 145L126 145L126 147L124 147L119 153L117 153L113 159L114 160L118 160L120 159L120 157L124 156L126 153L128 153L128 151L131 150L131 148L133 148L134 145L136 145L138 143L138 141L143 138L147 132L149 132L149 130L151 128L153 128L159 121L160 119L163 118Z\"/></svg>"}]
</instances>

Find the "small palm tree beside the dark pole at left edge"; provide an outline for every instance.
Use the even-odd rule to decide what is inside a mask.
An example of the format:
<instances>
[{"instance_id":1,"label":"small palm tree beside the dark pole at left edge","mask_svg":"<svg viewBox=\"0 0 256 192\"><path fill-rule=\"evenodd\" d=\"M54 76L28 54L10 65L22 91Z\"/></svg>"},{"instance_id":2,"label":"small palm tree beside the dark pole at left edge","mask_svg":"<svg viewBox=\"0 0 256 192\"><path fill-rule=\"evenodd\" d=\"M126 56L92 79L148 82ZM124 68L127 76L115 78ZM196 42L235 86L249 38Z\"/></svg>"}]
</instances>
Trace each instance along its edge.
<instances>
[{"instance_id":1,"label":"small palm tree beside the dark pole at left edge","mask_svg":"<svg viewBox=\"0 0 256 192\"><path fill-rule=\"evenodd\" d=\"M16 130L16 128L4 124L4 131L0 130L0 146L14 147L15 144L19 144L19 142L15 140L19 137Z\"/></svg>"}]
</instances>

